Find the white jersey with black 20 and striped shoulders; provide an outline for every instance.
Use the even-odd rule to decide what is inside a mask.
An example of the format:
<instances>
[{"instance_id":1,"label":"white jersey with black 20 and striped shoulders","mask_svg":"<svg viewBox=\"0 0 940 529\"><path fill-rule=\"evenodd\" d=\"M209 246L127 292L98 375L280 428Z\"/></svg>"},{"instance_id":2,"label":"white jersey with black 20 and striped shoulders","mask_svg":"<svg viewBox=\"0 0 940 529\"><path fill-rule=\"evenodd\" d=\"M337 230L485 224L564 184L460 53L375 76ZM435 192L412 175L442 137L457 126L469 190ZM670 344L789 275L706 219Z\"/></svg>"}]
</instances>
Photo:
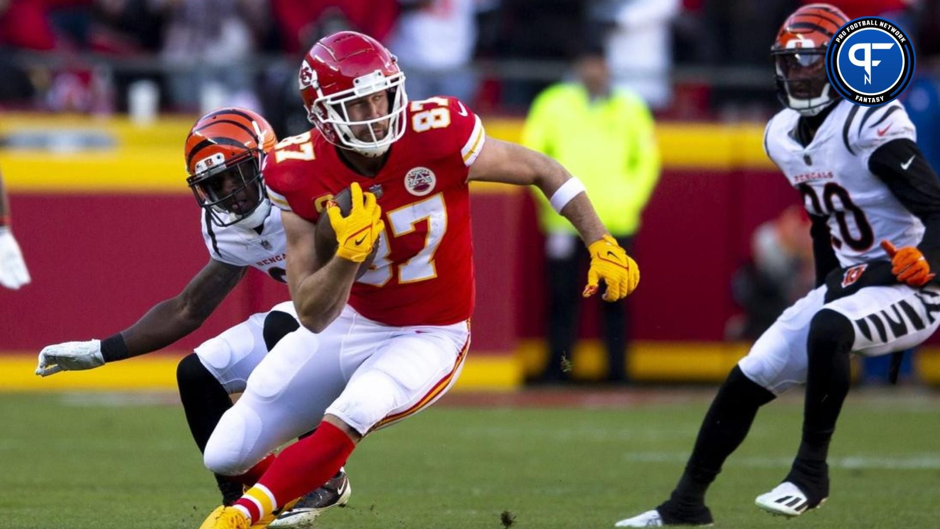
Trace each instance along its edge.
<instances>
[{"instance_id":1,"label":"white jersey with black 20 and striped shoulders","mask_svg":"<svg viewBox=\"0 0 940 529\"><path fill-rule=\"evenodd\" d=\"M778 112L764 131L764 150L800 192L807 213L828 217L839 264L887 260L883 239L898 248L917 246L923 223L869 170L871 153L885 143L917 141L904 107L842 100L806 147L796 139L799 119L790 108Z\"/></svg>"}]
</instances>

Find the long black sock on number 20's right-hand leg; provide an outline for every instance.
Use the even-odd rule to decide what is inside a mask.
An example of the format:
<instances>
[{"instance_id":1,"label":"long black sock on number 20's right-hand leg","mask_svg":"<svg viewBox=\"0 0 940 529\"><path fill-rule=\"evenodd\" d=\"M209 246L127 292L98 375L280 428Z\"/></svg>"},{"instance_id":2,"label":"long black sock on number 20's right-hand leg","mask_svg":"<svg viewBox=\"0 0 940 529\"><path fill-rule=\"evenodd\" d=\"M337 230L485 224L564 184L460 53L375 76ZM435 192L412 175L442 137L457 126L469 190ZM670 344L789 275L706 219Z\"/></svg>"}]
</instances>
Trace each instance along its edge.
<instances>
[{"instance_id":1,"label":"long black sock on number 20's right-hand leg","mask_svg":"<svg viewBox=\"0 0 940 529\"><path fill-rule=\"evenodd\" d=\"M828 495L826 457L836 431L838 413L849 393L852 372L849 353L855 340L852 322L828 309L813 316L807 338L807 397L803 410L803 439L787 481L818 502Z\"/></svg>"}]
</instances>

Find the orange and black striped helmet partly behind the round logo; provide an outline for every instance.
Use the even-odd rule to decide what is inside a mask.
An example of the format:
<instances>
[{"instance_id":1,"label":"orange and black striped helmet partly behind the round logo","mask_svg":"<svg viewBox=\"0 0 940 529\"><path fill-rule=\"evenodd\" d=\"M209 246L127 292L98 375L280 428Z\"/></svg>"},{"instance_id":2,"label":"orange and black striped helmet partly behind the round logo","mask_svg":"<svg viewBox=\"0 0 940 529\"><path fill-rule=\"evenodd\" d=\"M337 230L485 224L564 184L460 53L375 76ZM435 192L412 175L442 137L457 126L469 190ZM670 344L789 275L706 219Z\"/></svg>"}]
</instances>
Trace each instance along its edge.
<instances>
[{"instance_id":1,"label":"orange and black striped helmet partly behind the round logo","mask_svg":"<svg viewBox=\"0 0 940 529\"><path fill-rule=\"evenodd\" d=\"M849 22L839 8L807 4L780 26L771 47L780 102L804 116L815 116L836 101L825 73L825 53L839 27Z\"/></svg>"}]
</instances>

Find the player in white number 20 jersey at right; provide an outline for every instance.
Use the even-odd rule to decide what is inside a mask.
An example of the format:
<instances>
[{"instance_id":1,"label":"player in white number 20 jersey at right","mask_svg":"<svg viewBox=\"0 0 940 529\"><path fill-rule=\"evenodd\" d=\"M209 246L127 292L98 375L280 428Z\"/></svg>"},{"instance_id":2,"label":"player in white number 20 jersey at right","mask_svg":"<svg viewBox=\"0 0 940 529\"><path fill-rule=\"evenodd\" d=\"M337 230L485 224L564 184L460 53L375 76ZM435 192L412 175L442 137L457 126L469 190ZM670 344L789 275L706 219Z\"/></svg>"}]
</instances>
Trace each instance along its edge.
<instances>
[{"instance_id":1,"label":"player in white number 20 jersey at right","mask_svg":"<svg viewBox=\"0 0 940 529\"><path fill-rule=\"evenodd\" d=\"M797 9L772 55L788 107L767 123L767 155L812 219L816 288L781 314L731 370L671 497L618 527L712 523L705 492L758 409L806 384L803 438L783 481L756 504L795 517L829 496L826 458L850 382L850 355L922 343L940 326L940 184L897 102L859 106L835 94L826 46L849 22L838 8ZM896 357L897 358L897 357Z\"/></svg>"}]
</instances>

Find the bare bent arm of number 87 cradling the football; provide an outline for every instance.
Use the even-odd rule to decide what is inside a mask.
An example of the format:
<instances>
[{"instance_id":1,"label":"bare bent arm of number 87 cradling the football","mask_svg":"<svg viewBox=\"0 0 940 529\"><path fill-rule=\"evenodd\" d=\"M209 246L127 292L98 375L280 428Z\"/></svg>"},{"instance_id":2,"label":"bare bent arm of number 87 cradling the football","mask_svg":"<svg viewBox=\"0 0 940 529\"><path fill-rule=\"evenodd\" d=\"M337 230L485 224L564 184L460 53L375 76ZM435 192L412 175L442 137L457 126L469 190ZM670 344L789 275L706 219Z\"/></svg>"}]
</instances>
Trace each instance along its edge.
<instances>
[{"instance_id":1,"label":"bare bent arm of number 87 cradling the football","mask_svg":"<svg viewBox=\"0 0 940 529\"><path fill-rule=\"evenodd\" d=\"M326 329L342 312L355 281L358 263L317 255L317 225L294 213L281 214L287 234L290 299L301 325L313 332ZM321 222L329 222L324 215Z\"/></svg>"}]
</instances>

